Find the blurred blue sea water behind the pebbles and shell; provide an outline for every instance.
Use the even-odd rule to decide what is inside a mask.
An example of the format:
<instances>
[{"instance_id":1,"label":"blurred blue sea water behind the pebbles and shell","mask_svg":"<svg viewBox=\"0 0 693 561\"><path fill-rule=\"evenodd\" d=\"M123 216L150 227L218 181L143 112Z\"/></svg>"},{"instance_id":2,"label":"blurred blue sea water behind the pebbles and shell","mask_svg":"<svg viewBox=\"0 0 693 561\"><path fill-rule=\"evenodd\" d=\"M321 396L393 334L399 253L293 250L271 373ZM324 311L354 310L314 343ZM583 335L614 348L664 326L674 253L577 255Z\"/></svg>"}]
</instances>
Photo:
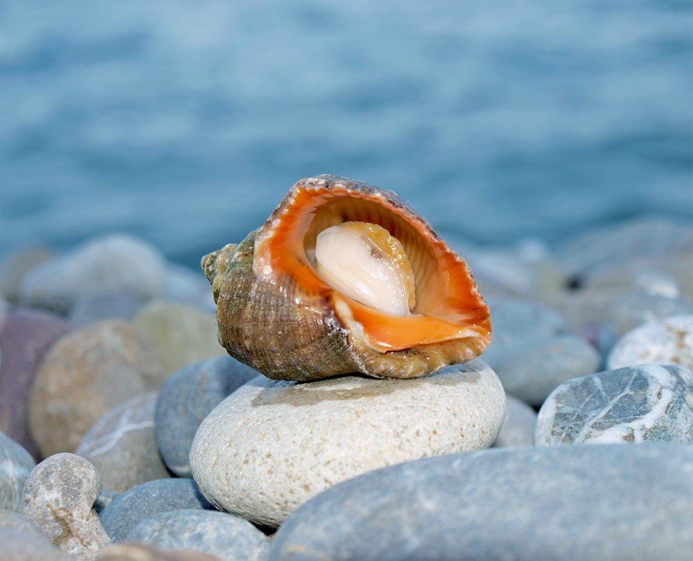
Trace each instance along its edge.
<instances>
[{"instance_id":1,"label":"blurred blue sea water behind the pebbles and shell","mask_svg":"<svg viewBox=\"0 0 693 561\"><path fill-rule=\"evenodd\" d=\"M196 265L326 172L471 242L690 222L693 4L0 3L0 257Z\"/></svg>"}]
</instances>

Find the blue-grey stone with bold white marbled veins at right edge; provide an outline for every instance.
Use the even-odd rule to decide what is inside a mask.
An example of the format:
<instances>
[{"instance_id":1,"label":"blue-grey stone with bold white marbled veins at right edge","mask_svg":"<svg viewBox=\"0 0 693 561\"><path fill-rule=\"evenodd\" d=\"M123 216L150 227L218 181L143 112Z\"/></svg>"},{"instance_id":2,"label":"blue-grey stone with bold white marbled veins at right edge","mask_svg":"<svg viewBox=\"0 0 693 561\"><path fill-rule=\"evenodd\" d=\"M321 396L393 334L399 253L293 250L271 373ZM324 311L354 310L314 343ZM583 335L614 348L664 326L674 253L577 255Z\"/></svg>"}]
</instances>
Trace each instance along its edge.
<instances>
[{"instance_id":1,"label":"blue-grey stone with bold white marbled veins at right edge","mask_svg":"<svg viewBox=\"0 0 693 561\"><path fill-rule=\"evenodd\" d=\"M536 445L693 444L693 372L642 364L569 380L539 411Z\"/></svg>"}]
</instances>

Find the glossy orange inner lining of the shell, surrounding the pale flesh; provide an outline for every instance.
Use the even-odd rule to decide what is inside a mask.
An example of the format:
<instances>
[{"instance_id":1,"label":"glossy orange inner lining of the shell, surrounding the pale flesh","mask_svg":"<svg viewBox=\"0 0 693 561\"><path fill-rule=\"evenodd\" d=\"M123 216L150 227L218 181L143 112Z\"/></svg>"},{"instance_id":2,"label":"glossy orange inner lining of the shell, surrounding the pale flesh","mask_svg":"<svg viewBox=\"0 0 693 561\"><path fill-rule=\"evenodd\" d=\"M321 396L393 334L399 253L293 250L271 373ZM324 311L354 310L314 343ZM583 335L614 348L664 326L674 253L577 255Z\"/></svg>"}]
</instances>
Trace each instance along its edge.
<instances>
[{"instance_id":1,"label":"glossy orange inner lining of the shell, surrounding the pale flesh","mask_svg":"<svg viewBox=\"0 0 693 561\"><path fill-rule=\"evenodd\" d=\"M378 192L297 186L292 195L271 233L256 248L262 262L270 264L272 271L290 275L304 292L345 301L371 346L385 352L466 337L491 340L489 308L466 263L421 217ZM380 224L402 243L416 281L411 316L395 316L358 303L317 276L309 257L317 234L350 220Z\"/></svg>"}]
</instances>

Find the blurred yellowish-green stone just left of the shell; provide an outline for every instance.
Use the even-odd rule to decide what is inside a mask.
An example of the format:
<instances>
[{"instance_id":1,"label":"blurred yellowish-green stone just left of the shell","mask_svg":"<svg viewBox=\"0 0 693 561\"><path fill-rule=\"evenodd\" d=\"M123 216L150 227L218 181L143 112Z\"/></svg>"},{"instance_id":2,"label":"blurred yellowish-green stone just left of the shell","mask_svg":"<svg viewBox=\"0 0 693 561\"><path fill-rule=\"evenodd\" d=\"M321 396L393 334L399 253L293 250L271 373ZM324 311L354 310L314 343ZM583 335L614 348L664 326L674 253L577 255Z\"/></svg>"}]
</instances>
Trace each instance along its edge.
<instances>
[{"instance_id":1,"label":"blurred yellowish-green stone just left of the shell","mask_svg":"<svg viewBox=\"0 0 693 561\"><path fill-rule=\"evenodd\" d=\"M217 341L216 318L194 306L155 301L140 310L134 326L157 350L166 373L226 355Z\"/></svg>"}]
</instances>

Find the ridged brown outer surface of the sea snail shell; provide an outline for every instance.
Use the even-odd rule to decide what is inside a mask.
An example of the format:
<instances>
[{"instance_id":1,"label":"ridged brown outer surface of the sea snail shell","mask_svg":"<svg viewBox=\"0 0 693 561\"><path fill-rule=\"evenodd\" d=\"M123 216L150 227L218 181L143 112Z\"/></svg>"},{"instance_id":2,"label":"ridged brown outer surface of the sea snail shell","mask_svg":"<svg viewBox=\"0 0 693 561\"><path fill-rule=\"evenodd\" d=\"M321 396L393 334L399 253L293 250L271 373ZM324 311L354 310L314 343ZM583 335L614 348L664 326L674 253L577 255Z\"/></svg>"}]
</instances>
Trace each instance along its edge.
<instances>
[{"instance_id":1,"label":"ridged brown outer surface of the sea snail shell","mask_svg":"<svg viewBox=\"0 0 693 561\"><path fill-rule=\"evenodd\" d=\"M229 354L275 380L319 380L348 373L374 377L412 378L448 364L466 362L484 352L491 339L490 323L480 337L468 337L381 353L350 334L329 296L303 290L289 275L256 274L256 244L267 238L300 189L346 189L354 195L385 197L405 215L430 230L428 223L394 193L360 181L330 175L301 179L263 226L238 246L229 244L202 259L217 304L218 339ZM430 235L440 242L435 233ZM474 296L488 317L488 307Z\"/></svg>"}]
</instances>

